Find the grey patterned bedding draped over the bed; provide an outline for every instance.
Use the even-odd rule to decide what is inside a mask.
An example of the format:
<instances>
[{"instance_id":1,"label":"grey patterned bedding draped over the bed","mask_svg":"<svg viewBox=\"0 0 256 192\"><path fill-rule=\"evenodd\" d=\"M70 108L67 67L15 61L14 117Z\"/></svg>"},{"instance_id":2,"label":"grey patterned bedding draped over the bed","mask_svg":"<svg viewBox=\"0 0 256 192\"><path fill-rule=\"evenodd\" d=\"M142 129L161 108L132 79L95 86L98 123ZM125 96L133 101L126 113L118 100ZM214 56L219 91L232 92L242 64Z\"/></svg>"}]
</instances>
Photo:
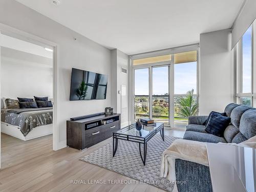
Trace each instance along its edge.
<instances>
[{"instance_id":1,"label":"grey patterned bedding draped over the bed","mask_svg":"<svg viewBox=\"0 0 256 192\"><path fill-rule=\"evenodd\" d=\"M20 127L24 136L37 126L52 123L52 108L2 109L1 121Z\"/></svg>"}]
</instances>

